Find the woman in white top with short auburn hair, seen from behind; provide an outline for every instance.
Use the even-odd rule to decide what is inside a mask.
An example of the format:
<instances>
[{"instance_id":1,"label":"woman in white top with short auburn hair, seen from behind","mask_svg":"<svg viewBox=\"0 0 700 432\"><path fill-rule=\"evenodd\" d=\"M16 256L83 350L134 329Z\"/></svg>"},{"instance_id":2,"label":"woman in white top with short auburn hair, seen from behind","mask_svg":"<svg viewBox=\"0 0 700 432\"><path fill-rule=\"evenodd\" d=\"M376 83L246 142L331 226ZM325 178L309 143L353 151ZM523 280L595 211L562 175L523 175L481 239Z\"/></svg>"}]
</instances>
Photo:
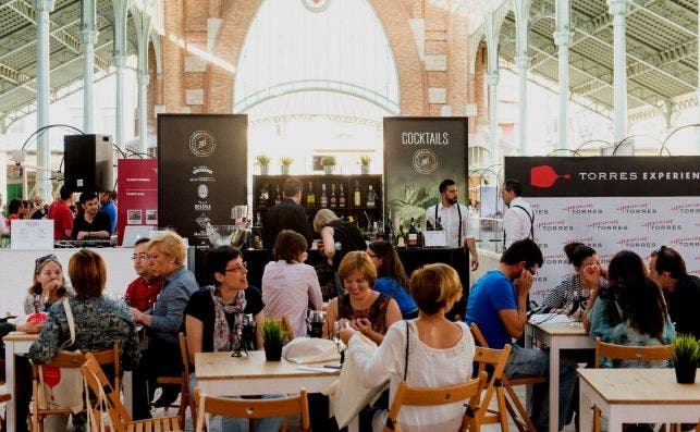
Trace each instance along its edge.
<instances>
[{"instance_id":1,"label":"woman in white top with short auburn hair, seen from behind","mask_svg":"<svg viewBox=\"0 0 700 432\"><path fill-rule=\"evenodd\" d=\"M438 387L462 384L471 377L475 353L471 333L464 322L452 322L445 317L462 298L457 272L447 264L427 264L414 271L410 292L418 304L418 318L391 325L373 354L357 331L341 331L341 338L348 345L346 356L358 366L363 384L376 387L390 381L390 406L404 380L412 387ZM462 402L406 406L398 414L398 422L401 430L407 432L456 431L463 415ZM386 417L386 410L376 411L371 429L381 431Z\"/></svg>"}]
</instances>

